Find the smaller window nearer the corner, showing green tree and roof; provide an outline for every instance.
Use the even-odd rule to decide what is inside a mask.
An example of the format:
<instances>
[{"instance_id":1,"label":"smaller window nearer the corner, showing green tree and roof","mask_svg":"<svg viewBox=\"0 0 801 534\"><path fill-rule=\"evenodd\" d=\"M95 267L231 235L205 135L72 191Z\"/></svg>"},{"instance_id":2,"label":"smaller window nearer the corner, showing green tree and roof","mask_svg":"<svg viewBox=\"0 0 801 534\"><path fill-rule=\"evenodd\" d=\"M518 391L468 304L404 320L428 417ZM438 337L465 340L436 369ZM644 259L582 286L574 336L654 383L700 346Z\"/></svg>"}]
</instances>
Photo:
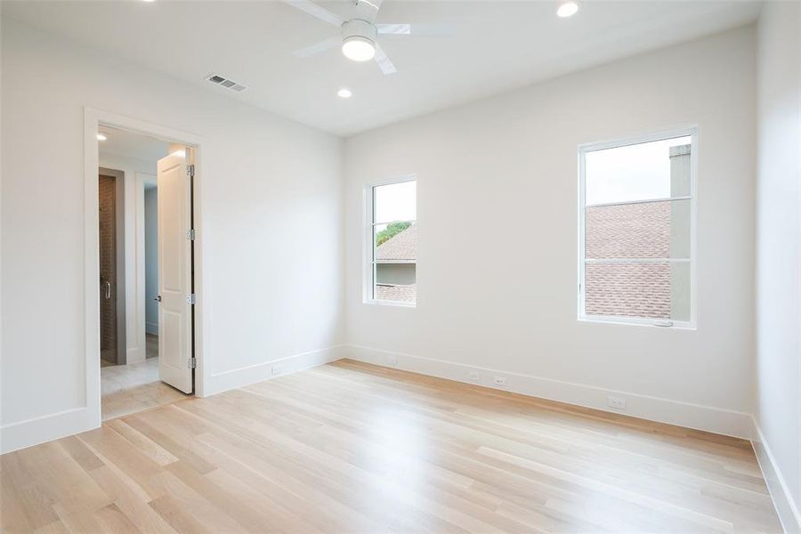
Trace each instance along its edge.
<instances>
[{"instance_id":1,"label":"smaller window nearer the corner, showing green tree and roof","mask_svg":"<svg viewBox=\"0 0 801 534\"><path fill-rule=\"evenodd\" d=\"M368 301L417 303L417 181L370 188Z\"/></svg>"}]
</instances>

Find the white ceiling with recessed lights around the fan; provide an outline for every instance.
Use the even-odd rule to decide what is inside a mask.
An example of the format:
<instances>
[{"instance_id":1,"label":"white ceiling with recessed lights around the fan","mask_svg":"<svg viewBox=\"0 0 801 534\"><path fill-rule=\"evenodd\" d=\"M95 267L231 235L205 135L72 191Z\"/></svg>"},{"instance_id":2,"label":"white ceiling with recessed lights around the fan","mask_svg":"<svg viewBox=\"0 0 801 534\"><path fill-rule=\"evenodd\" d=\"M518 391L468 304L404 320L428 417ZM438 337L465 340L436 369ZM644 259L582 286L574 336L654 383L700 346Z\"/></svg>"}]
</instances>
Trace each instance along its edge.
<instances>
[{"instance_id":1,"label":"white ceiling with recessed lights around the fan","mask_svg":"<svg viewBox=\"0 0 801 534\"><path fill-rule=\"evenodd\" d=\"M344 16L344 0L320 1ZM3 2L4 16L107 50L150 69L334 134L475 100L571 70L734 28L756 19L746 1L584 0L570 19L555 1L386 0L376 22L448 23L449 37L382 36L398 73L292 51L337 29L278 1ZM211 85L211 73L249 89ZM341 86L353 97L336 96Z\"/></svg>"}]
</instances>

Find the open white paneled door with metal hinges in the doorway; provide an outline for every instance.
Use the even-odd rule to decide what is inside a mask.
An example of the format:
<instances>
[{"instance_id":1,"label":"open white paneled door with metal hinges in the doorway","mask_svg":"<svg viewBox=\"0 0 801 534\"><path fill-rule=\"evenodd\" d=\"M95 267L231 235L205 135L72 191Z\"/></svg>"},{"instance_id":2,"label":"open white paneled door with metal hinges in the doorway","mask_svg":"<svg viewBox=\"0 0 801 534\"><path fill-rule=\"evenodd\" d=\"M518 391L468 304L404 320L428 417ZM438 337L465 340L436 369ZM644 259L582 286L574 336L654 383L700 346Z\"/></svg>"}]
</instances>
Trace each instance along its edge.
<instances>
[{"instance_id":1,"label":"open white paneled door with metal hinges in the doorway","mask_svg":"<svg viewBox=\"0 0 801 534\"><path fill-rule=\"evenodd\" d=\"M158 375L192 392L191 178L185 156L158 160Z\"/></svg>"}]
</instances>

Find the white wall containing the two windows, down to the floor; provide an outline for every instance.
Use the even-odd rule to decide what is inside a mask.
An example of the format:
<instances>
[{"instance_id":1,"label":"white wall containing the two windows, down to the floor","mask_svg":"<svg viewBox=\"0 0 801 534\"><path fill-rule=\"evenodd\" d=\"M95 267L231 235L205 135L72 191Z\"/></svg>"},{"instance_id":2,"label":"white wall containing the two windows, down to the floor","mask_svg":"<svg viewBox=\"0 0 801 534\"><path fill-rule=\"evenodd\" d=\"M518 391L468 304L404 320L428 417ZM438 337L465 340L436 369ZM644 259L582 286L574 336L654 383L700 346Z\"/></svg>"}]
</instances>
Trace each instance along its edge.
<instances>
[{"instance_id":1,"label":"white wall containing the two windows, down to the floor","mask_svg":"<svg viewBox=\"0 0 801 534\"><path fill-rule=\"evenodd\" d=\"M347 140L349 353L459 380L498 369L508 389L601 409L626 392L629 414L748 436L754 77L741 28ZM698 329L578 322L578 144L692 124ZM406 174L417 308L365 304L362 188Z\"/></svg>"}]
</instances>

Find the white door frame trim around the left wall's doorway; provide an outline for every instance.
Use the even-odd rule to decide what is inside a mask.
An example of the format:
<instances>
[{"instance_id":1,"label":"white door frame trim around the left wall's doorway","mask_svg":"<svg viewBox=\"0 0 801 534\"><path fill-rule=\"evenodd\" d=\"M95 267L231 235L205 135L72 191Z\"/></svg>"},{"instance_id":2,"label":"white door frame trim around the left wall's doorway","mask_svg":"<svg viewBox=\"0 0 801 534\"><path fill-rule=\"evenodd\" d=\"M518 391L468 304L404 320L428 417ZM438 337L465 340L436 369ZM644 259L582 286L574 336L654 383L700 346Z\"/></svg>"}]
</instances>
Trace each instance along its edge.
<instances>
[{"instance_id":1,"label":"white door frame trim around the left wall's doorway","mask_svg":"<svg viewBox=\"0 0 801 534\"><path fill-rule=\"evenodd\" d=\"M201 146L203 139L199 135L182 132L163 125L142 121L124 115L117 115L101 109L84 108L84 294L85 294L85 349L86 349L86 409L88 417L101 425L101 374L100 374L100 257L98 247L98 182L99 143L97 133L101 125L150 135L167 142L181 143L195 149L195 176L192 202L194 205L193 226L195 238L195 293L198 302L195 304L195 395L204 395L204 358L203 358L203 295L205 286L203 279L203 229L200 183L202 176Z\"/></svg>"}]
</instances>

